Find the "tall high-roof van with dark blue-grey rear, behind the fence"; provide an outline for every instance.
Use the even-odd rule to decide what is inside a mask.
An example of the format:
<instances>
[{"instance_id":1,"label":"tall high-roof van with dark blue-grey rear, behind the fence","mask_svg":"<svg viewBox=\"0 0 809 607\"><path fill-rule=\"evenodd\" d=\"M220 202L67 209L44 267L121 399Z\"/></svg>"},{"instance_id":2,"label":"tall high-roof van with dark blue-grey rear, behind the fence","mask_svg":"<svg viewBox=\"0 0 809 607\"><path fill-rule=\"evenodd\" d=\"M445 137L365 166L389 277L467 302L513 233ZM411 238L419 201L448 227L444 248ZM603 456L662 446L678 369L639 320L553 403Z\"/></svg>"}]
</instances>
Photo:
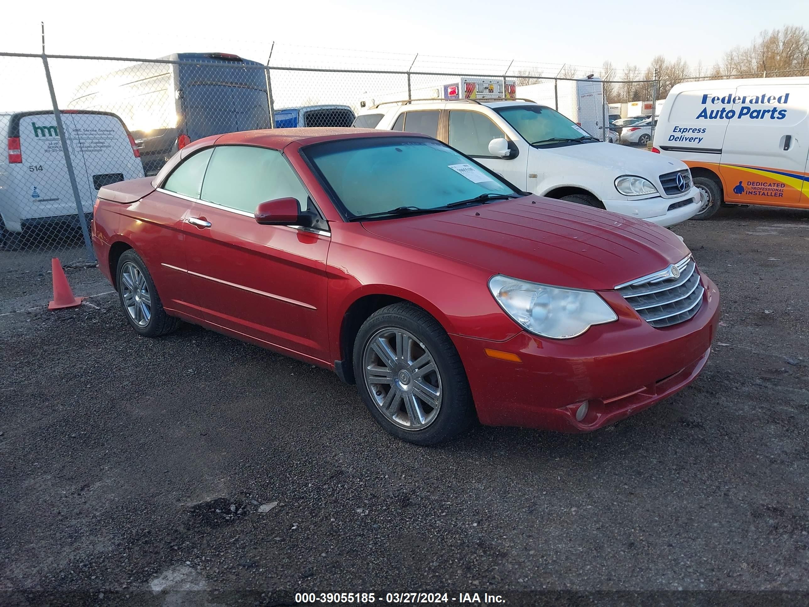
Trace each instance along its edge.
<instances>
[{"instance_id":1,"label":"tall high-roof van with dark blue-grey rear, behind the fence","mask_svg":"<svg viewBox=\"0 0 809 607\"><path fill-rule=\"evenodd\" d=\"M121 116L146 175L197 139L270 127L265 66L231 53L174 53L136 63L81 83L74 95L69 108Z\"/></svg>"}]
</instances>

